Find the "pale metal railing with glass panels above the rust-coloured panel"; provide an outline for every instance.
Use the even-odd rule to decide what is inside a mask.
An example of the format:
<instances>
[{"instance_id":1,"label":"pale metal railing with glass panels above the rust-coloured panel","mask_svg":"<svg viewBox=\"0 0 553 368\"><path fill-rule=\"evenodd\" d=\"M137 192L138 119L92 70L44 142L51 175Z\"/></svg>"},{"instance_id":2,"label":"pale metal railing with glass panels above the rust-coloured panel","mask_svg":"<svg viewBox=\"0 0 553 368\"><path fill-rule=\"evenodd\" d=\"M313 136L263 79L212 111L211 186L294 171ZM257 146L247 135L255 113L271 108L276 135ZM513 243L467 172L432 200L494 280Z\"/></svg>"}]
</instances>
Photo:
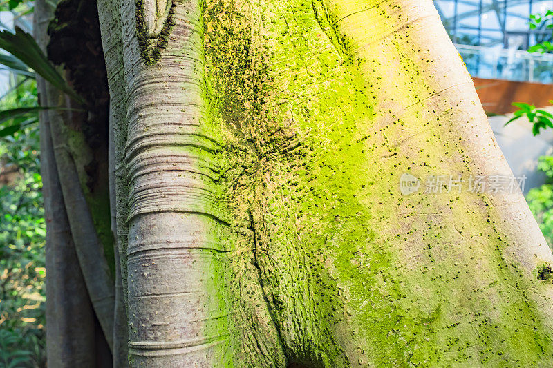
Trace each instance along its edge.
<instances>
[{"instance_id":1,"label":"pale metal railing with glass panels above the rust-coloured panel","mask_svg":"<svg viewBox=\"0 0 553 368\"><path fill-rule=\"evenodd\" d=\"M456 44L473 77L553 84L553 54Z\"/></svg>"}]
</instances>

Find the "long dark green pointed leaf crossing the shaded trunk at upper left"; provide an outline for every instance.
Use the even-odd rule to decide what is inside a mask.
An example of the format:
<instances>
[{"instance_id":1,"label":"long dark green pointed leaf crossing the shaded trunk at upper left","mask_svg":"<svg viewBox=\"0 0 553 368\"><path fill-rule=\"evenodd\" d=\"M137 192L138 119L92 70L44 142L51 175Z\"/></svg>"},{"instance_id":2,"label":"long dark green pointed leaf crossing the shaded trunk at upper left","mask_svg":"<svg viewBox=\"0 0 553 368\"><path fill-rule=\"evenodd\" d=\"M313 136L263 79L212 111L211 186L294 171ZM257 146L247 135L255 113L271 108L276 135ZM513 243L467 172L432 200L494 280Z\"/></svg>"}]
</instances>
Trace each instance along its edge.
<instances>
[{"instance_id":1,"label":"long dark green pointed leaf crossing the shaded trunk at upper left","mask_svg":"<svg viewBox=\"0 0 553 368\"><path fill-rule=\"evenodd\" d=\"M62 90L80 104L85 104L82 97L68 86L64 78L59 75L56 68L50 63L44 52L39 48L35 39L24 30L15 27L15 33L6 30L0 32L0 48L30 66L38 75L50 82L55 88Z\"/></svg>"}]
</instances>

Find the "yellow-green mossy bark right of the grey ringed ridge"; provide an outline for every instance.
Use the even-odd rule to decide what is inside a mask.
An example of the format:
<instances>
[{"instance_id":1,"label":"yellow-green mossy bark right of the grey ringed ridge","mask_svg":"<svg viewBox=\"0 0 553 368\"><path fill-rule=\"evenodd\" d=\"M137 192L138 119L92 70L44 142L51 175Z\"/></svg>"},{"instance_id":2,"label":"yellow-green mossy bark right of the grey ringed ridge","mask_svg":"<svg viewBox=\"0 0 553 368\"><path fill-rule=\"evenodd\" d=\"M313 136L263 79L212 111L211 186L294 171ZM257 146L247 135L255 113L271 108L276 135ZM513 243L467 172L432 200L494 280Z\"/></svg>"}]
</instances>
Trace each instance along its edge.
<instances>
[{"instance_id":1,"label":"yellow-green mossy bark right of the grey ringed ridge","mask_svg":"<svg viewBox=\"0 0 553 368\"><path fill-rule=\"evenodd\" d=\"M173 149L218 168L203 209L218 248L200 251L205 336L228 340L217 367L551 364L550 253L528 271L493 194L400 194L404 172L489 173L467 132L492 139L460 60L459 84L436 74L449 65L433 66L412 6L205 4L194 70L216 144Z\"/></svg>"}]
</instances>

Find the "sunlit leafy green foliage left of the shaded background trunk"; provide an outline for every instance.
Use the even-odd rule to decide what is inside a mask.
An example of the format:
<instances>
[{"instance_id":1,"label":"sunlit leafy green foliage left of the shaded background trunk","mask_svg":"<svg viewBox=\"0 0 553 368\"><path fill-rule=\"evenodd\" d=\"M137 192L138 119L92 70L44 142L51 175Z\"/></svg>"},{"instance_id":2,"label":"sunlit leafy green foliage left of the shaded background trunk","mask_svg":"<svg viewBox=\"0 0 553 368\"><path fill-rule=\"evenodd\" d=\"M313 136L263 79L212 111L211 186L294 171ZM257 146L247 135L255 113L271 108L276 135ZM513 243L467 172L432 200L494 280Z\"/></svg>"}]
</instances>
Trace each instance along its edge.
<instances>
[{"instance_id":1,"label":"sunlit leafy green foliage left of the shaded background trunk","mask_svg":"<svg viewBox=\"0 0 553 368\"><path fill-rule=\"evenodd\" d=\"M0 109L35 110L35 81L20 82L1 99ZM6 113L0 131L24 119L28 117ZM0 140L0 367L45 365L41 186L38 126L20 124Z\"/></svg>"}]
</instances>

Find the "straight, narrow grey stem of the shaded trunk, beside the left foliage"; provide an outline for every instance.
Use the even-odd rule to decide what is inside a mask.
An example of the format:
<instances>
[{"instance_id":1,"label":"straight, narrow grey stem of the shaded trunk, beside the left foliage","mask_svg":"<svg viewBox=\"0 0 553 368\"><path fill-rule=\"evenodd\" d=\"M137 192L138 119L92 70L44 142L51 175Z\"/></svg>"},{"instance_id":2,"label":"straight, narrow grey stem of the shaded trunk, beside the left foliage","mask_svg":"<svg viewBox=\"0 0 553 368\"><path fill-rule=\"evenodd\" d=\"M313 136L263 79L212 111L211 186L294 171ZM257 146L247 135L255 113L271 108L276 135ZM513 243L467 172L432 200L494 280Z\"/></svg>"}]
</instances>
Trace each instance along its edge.
<instances>
[{"instance_id":1,"label":"straight, narrow grey stem of the shaded trunk, beside the left foliage","mask_svg":"<svg viewBox=\"0 0 553 368\"><path fill-rule=\"evenodd\" d=\"M35 37L46 50L52 17L35 1ZM46 82L37 77L39 102L46 106ZM48 113L40 116L41 175L46 217L46 353L50 367L94 367L94 311L82 277L65 212L50 135Z\"/></svg>"}]
</instances>

